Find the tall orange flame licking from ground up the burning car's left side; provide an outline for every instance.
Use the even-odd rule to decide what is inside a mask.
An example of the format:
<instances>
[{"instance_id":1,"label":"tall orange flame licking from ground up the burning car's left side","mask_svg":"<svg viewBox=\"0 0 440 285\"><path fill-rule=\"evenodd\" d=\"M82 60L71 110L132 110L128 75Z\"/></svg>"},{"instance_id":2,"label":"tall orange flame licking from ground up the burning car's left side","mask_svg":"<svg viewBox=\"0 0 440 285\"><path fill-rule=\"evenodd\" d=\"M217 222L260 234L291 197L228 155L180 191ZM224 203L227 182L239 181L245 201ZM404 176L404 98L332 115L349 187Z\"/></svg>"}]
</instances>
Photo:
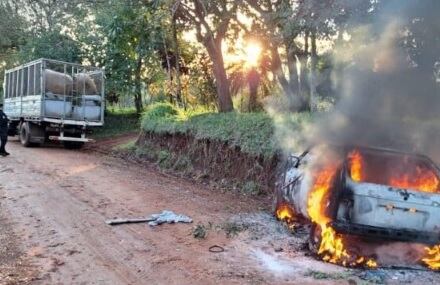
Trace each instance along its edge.
<instances>
[{"instance_id":1,"label":"tall orange flame licking from ground up the burning car's left side","mask_svg":"<svg viewBox=\"0 0 440 285\"><path fill-rule=\"evenodd\" d=\"M321 244L318 255L324 261L343 266L377 267L376 261L371 258L350 255L344 245L343 236L337 234L328 225L331 219L326 215L325 207L329 201L331 186L336 177L337 170L338 166L332 165L318 171L308 198L308 214L311 220L321 228Z\"/></svg>"}]
</instances>

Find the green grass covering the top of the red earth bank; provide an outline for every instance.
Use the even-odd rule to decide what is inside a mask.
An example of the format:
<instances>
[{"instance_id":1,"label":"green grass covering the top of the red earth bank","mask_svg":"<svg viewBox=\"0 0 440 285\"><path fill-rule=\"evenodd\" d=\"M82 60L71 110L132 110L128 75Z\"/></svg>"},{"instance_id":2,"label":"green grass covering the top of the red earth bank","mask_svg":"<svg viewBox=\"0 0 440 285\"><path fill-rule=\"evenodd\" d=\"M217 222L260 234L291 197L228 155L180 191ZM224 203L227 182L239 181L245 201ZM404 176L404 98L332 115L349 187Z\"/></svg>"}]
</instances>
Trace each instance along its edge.
<instances>
[{"instance_id":1,"label":"green grass covering the top of the red earth bank","mask_svg":"<svg viewBox=\"0 0 440 285\"><path fill-rule=\"evenodd\" d=\"M309 113L285 115L281 120L288 129L303 129L310 122ZM270 115L258 113L211 113L206 110L184 111L168 103L150 105L142 116L143 131L156 134L185 134L198 140L214 140L231 148L264 157L278 151L276 128Z\"/></svg>"}]
</instances>

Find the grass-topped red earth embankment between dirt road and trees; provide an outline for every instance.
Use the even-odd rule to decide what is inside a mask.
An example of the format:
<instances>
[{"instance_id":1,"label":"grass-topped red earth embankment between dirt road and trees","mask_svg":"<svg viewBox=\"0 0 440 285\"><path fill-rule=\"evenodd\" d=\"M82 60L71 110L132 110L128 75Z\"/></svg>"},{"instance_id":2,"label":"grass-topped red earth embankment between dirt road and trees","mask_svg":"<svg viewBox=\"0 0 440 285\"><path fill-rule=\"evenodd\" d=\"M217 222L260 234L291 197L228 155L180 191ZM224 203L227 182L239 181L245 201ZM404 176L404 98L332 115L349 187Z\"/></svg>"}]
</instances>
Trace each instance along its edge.
<instances>
[{"instance_id":1,"label":"grass-topped red earth embankment between dirt road and trees","mask_svg":"<svg viewBox=\"0 0 440 285\"><path fill-rule=\"evenodd\" d=\"M295 128L309 117L287 121ZM267 113L188 112L156 103L141 130L138 144L123 148L161 168L250 194L273 187L280 151Z\"/></svg>"}]
</instances>

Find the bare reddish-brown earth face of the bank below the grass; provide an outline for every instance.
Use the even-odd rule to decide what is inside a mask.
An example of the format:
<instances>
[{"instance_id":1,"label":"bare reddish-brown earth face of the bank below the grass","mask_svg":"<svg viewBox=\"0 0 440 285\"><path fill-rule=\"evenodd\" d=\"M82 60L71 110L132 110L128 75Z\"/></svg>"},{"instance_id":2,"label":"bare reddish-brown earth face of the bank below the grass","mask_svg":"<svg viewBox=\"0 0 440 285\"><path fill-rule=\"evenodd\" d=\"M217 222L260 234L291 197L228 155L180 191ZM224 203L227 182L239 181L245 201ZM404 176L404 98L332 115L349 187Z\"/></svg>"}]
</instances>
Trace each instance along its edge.
<instances>
[{"instance_id":1,"label":"bare reddish-brown earth face of the bank below the grass","mask_svg":"<svg viewBox=\"0 0 440 285\"><path fill-rule=\"evenodd\" d=\"M278 157L252 156L226 142L196 139L182 134L144 132L137 145L145 155L165 162L179 171L239 188L252 194L271 193L276 179ZM168 151L167 157L154 157L155 150ZM150 151L148 151L150 150ZM159 156L161 156L159 154ZM162 155L163 156L163 155Z\"/></svg>"}]
</instances>

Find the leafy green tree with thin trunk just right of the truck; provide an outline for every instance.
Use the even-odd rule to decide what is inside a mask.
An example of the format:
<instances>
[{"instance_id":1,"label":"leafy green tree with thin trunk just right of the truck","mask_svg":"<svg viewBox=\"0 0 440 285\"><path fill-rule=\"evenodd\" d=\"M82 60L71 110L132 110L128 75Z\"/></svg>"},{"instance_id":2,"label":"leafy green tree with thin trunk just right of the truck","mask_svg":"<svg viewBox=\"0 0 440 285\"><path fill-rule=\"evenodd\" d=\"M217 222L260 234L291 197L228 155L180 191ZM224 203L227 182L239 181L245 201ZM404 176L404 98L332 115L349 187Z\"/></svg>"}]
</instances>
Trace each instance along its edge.
<instances>
[{"instance_id":1,"label":"leafy green tree with thin trunk just right of the truck","mask_svg":"<svg viewBox=\"0 0 440 285\"><path fill-rule=\"evenodd\" d=\"M136 111L143 110L142 85L161 70L164 49L164 19L152 4L116 1L98 17L105 35L104 64L116 92L134 94ZM163 11L161 11L163 12Z\"/></svg>"}]
</instances>

